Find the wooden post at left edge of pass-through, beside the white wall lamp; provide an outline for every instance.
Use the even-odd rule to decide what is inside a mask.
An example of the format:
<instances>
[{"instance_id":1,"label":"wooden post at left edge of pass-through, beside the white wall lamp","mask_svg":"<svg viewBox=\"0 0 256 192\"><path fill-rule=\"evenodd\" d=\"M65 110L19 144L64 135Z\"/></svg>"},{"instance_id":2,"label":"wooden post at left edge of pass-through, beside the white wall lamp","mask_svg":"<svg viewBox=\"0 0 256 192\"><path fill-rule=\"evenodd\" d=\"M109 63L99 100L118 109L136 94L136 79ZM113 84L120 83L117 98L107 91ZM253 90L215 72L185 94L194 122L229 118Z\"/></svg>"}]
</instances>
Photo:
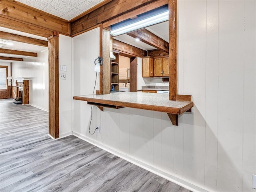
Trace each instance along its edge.
<instances>
[{"instance_id":1,"label":"wooden post at left edge of pass-through, beside the white wall lamp","mask_svg":"<svg viewBox=\"0 0 256 192\"><path fill-rule=\"evenodd\" d=\"M102 94L110 94L110 31L102 29Z\"/></svg>"}]
</instances>

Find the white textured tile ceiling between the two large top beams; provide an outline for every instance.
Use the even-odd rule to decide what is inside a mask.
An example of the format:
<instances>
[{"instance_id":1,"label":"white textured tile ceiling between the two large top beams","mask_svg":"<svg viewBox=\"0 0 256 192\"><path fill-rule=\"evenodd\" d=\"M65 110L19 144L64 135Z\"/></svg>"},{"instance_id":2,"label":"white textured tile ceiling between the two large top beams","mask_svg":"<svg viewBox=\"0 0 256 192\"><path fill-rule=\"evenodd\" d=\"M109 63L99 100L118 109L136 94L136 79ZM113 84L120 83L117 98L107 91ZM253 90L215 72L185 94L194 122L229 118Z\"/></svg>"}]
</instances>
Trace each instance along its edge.
<instances>
[{"instance_id":1,"label":"white textured tile ceiling between the two large top beams","mask_svg":"<svg viewBox=\"0 0 256 192\"><path fill-rule=\"evenodd\" d=\"M16 0L65 20L71 20L104 0Z\"/></svg>"}]
</instances>

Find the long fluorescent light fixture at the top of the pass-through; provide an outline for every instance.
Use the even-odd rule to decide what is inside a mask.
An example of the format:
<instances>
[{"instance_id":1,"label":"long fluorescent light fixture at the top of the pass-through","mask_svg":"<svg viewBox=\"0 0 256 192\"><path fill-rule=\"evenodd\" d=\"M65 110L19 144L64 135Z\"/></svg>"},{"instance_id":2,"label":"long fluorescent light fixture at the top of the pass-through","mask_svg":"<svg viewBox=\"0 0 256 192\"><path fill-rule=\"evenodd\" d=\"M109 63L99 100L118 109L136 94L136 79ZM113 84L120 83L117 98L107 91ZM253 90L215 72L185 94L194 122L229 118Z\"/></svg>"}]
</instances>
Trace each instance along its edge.
<instances>
[{"instance_id":1,"label":"long fluorescent light fixture at the top of the pass-through","mask_svg":"<svg viewBox=\"0 0 256 192\"><path fill-rule=\"evenodd\" d=\"M113 36L125 34L134 30L138 30L144 27L148 27L160 22L167 21L169 19L169 10L168 7L163 7L153 12L148 12L143 16L138 16L133 20L128 20L111 26L112 30L110 33Z\"/></svg>"}]
</instances>

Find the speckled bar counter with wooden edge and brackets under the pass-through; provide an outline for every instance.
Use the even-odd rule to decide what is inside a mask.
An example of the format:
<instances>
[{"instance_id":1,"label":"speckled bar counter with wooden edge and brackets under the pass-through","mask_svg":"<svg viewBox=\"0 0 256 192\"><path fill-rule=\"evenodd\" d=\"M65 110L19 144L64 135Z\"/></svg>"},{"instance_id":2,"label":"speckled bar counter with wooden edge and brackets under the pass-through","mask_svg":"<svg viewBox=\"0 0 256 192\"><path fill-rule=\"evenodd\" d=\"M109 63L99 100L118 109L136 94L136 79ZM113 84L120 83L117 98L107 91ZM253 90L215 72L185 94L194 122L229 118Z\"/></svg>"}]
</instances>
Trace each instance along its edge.
<instances>
[{"instance_id":1,"label":"speckled bar counter with wooden edge and brackets under the pass-through","mask_svg":"<svg viewBox=\"0 0 256 192\"><path fill-rule=\"evenodd\" d=\"M187 101L169 100L169 94L155 94L142 92L116 92L106 95L82 95L74 96L74 100L87 101L87 104L98 106L103 111L103 107L108 108L138 108L166 112L173 125L178 126L178 115L190 110L193 107L191 96L182 96ZM190 101L188 101L190 98Z\"/></svg>"}]
</instances>

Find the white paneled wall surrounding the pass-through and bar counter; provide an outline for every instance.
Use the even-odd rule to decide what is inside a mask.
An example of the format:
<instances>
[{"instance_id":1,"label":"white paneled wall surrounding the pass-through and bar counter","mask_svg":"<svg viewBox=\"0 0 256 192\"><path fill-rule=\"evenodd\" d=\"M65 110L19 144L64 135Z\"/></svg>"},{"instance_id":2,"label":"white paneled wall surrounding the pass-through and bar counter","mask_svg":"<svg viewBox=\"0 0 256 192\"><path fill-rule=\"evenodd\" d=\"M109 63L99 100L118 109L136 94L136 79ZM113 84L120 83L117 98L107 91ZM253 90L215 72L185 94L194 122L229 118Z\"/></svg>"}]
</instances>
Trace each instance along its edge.
<instances>
[{"instance_id":1,"label":"white paneled wall surrounding the pass-through and bar counter","mask_svg":"<svg viewBox=\"0 0 256 192\"><path fill-rule=\"evenodd\" d=\"M139 164L213 192L254 192L256 1L178 0L178 92L192 113L92 107L74 100L73 133ZM74 95L92 94L99 30L74 40ZM193 187L193 186L190 186ZM198 189L197 189L198 190Z\"/></svg>"}]
</instances>

